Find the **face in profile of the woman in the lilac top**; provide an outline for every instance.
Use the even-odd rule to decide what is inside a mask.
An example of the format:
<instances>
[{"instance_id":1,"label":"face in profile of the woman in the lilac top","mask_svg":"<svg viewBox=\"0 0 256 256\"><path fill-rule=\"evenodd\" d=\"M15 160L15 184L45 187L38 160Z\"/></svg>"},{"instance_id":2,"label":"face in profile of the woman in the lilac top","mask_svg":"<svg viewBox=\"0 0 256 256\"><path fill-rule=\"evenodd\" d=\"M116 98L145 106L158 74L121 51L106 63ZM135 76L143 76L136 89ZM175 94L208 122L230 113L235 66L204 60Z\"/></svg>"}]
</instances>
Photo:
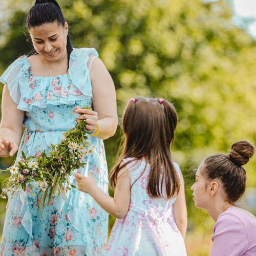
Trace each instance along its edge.
<instances>
[{"instance_id":1,"label":"face in profile of the woman in the lilac top","mask_svg":"<svg viewBox=\"0 0 256 256\"><path fill-rule=\"evenodd\" d=\"M191 186L191 190L193 190L193 200L195 201L195 206L197 208L206 208L207 204L210 201L210 193L208 185L209 181L205 179L205 177L202 175L201 170L203 170L204 164L202 163L197 170L196 173L196 181Z\"/></svg>"}]
</instances>

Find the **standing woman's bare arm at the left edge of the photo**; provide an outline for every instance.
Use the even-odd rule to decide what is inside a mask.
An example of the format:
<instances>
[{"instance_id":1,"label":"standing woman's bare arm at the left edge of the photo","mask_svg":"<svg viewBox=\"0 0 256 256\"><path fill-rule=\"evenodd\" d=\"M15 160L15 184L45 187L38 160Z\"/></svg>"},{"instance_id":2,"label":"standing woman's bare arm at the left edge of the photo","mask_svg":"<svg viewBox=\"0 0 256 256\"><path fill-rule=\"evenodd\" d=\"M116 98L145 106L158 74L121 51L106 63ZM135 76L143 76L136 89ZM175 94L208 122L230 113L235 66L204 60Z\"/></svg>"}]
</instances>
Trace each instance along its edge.
<instances>
[{"instance_id":1,"label":"standing woman's bare arm at the left edge of the photo","mask_svg":"<svg viewBox=\"0 0 256 256\"><path fill-rule=\"evenodd\" d=\"M18 150L22 136L22 125L25 112L17 109L7 88L4 86L2 96L2 119L0 123L0 156L13 156Z\"/></svg>"}]
</instances>

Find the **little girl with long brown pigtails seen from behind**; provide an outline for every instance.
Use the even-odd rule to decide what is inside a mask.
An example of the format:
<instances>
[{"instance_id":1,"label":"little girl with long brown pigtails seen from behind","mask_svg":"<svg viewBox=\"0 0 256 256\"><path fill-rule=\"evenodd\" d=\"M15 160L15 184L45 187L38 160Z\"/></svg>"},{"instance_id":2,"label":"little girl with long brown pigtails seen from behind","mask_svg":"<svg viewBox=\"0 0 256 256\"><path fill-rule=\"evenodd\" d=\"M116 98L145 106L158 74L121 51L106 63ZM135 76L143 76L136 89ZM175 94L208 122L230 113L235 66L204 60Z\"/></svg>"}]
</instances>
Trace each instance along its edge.
<instances>
[{"instance_id":1,"label":"little girl with long brown pigtails seen from behind","mask_svg":"<svg viewBox=\"0 0 256 256\"><path fill-rule=\"evenodd\" d=\"M170 154L176 124L167 100L132 98L123 116L123 152L110 174L114 198L92 172L75 174L78 190L117 218L106 255L186 255L184 181Z\"/></svg>"}]
</instances>

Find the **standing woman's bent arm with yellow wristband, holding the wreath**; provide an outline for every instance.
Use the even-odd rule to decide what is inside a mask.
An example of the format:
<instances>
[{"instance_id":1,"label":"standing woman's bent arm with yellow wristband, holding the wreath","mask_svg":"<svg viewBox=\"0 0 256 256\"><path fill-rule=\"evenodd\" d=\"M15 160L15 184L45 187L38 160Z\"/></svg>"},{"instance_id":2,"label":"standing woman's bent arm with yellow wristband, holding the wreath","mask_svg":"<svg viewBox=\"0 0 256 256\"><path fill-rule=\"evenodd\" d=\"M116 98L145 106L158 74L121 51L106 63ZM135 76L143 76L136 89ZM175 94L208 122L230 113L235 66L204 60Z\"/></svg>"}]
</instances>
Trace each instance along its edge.
<instances>
[{"instance_id":1,"label":"standing woman's bent arm with yellow wristband, holding the wreath","mask_svg":"<svg viewBox=\"0 0 256 256\"><path fill-rule=\"evenodd\" d=\"M90 56L89 62L92 61L91 58L92 56ZM90 76L94 111L76 108L76 113L81 114L78 119L87 119L86 128L89 132L96 131L98 123L97 137L108 139L115 134L118 124L114 82L99 58L93 60Z\"/></svg>"}]
</instances>

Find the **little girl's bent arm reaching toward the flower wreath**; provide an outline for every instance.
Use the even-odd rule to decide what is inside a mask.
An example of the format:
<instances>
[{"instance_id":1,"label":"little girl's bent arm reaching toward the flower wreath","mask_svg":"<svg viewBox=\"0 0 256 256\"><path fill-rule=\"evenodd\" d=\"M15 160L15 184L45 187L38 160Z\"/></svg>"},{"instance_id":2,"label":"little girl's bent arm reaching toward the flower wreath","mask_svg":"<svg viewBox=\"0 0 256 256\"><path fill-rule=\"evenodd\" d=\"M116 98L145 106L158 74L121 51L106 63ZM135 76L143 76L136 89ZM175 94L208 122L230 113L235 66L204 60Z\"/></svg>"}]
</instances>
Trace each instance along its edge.
<instances>
[{"instance_id":1,"label":"little girl's bent arm reaching toward the flower wreath","mask_svg":"<svg viewBox=\"0 0 256 256\"><path fill-rule=\"evenodd\" d=\"M126 167L118 174L114 198L106 195L95 183L92 172L89 177L75 173L77 189L90 194L94 200L110 215L122 219L128 212L131 200L131 185Z\"/></svg>"}]
</instances>

